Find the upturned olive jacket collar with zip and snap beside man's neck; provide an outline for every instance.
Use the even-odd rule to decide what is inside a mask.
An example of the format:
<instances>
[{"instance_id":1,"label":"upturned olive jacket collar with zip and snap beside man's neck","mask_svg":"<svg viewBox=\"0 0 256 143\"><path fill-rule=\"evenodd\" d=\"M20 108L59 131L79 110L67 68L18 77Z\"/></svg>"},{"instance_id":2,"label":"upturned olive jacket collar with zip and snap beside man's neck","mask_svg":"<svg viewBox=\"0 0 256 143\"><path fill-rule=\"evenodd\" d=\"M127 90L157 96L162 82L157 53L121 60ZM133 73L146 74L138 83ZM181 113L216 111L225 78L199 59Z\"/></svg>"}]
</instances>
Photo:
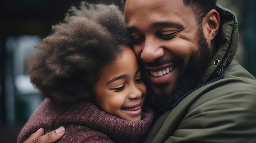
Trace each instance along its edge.
<instances>
[{"instance_id":1,"label":"upturned olive jacket collar with zip and snap beside man's neck","mask_svg":"<svg viewBox=\"0 0 256 143\"><path fill-rule=\"evenodd\" d=\"M235 56L238 46L238 22L236 15L229 9L221 7L217 4L218 13L220 14L220 30L216 36L217 52L209 66L201 77L202 85L222 74L223 68L227 67Z\"/></svg>"}]
</instances>

